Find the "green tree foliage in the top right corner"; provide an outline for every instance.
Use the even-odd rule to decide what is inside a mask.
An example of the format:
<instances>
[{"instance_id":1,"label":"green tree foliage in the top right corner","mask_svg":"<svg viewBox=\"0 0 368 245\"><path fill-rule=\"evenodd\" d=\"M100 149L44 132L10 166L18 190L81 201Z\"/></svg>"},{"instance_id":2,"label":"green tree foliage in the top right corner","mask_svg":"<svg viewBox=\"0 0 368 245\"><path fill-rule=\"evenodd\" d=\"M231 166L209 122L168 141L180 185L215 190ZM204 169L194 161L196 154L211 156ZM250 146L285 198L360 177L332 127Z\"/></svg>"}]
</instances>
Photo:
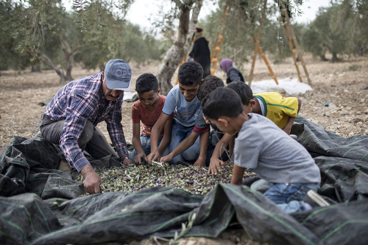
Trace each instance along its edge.
<instances>
[{"instance_id":1,"label":"green tree foliage in the top right corner","mask_svg":"<svg viewBox=\"0 0 368 245\"><path fill-rule=\"evenodd\" d=\"M325 53L362 55L367 49L368 2L343 0L320 8L303 35L305 50L325 60Z\"/></svg>"}]
</instances>

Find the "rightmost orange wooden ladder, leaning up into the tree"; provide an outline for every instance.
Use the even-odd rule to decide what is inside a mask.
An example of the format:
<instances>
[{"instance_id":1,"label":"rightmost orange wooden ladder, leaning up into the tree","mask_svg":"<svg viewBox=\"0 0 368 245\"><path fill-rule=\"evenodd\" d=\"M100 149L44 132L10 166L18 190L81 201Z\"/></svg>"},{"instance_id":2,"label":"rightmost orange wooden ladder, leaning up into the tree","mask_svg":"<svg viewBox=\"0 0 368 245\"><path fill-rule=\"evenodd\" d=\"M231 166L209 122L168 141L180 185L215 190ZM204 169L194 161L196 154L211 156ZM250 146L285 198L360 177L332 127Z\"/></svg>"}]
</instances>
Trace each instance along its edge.
<instances>
[{"instance_id":1,"label":"rightmost orange wooden ladder, leaning up into the tree","mask_svg":"<svg viewBox=\"0 0 368 245\"><path fill-rule=\"evenodd\" d=\"M283 8L281 11L282 15L282 22L285 29L287 42L289 43L291 55L293 56L294 64L298 72L299 81L303 82L303 78L307 78L309 86L312 86L311 79L309 78L307 67L305 66L303 56L300 52L300 47L297 41L297 38L295 36L293 27L290 24L289 15L287 14L287 11ZM298 58L300 61L298 61ZM299 67L302 66L304 69L304 74L301 74Z\"/></svg>"}]
</instances>

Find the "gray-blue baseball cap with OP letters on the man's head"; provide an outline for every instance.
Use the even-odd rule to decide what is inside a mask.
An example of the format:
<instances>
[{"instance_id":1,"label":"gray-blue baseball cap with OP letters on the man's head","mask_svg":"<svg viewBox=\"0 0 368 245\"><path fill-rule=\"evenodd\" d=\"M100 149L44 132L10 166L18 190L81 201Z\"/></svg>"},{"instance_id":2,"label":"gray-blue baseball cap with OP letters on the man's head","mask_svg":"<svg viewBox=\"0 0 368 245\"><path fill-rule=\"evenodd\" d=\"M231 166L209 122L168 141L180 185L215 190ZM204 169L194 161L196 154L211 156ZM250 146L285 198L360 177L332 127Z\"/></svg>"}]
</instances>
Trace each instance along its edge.
<instances>
[{"instance_id":1,"label":"gray-blue baseball cap with OP letters on the man's head","mask_svg":"<svg viewBox=\"0 0 368 245\"><path fill-rule=\"evenodd\" d=\"M105 66L106 85L109 89L130 91L132 71L121 59L109 60Z\"/></svg>"}]
</instances>

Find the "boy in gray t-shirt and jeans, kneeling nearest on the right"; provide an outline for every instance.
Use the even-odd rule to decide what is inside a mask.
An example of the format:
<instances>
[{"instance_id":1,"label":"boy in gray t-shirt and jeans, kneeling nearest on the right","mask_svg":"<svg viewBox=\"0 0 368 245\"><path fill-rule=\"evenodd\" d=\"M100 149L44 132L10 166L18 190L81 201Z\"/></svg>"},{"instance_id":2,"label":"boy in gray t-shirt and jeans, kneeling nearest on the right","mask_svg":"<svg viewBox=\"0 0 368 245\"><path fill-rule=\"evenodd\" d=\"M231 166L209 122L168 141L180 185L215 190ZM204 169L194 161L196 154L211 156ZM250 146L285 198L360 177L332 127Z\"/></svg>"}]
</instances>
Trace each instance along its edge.
<instances>
[{"instance_id":1,"label":"boy in gray t-shirt and jeans, kneeling nearest on the right","mask_svg":"<svg viewBox=\"0 0 368 245\"><path fill-rule=\"evenodd\" d=\"M309 190L318 190L321 173L307 149L268 118L247 115L240 97L229 88L210 93L202 102L202 111L220 130L238 132L231 184L240 185L245 168L250 168L272 183L264 195L285 212L311 209L303 200Z\"/></svg>"}]
</instances>

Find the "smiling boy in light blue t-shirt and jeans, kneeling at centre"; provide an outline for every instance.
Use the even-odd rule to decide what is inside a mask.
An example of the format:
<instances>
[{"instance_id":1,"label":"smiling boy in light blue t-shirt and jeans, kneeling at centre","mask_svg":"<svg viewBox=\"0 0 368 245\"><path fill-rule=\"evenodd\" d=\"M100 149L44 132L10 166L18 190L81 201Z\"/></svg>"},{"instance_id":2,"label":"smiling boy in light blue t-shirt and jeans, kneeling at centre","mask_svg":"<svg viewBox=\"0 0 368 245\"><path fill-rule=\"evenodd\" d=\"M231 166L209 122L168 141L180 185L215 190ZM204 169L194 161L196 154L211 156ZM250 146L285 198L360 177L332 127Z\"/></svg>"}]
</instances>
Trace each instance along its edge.
<instances>
[{"instance_id":1,"label":"smiling boy in light blue t-shirt and jeans, kneeling at centre","mask_svg":"<svg viewBox=\"0 0 368 245\"><path fill-rule=\"evenodd\" d=\"M197 91L203 76L202 66L194 61L185 62L178 71L178 84L167 94L162 113L151 130L151 154L147 156L148 162L158 161L161 154L158 151L159 134L167 119L174 112L171 126L170 152L173 151L185 138L187 138L201 112L201 101L197 98ZM195 143L181 154L175 156L171 163L178 161L194 161L199 156L199 138Z\"/></svg>"}]
</instances>

